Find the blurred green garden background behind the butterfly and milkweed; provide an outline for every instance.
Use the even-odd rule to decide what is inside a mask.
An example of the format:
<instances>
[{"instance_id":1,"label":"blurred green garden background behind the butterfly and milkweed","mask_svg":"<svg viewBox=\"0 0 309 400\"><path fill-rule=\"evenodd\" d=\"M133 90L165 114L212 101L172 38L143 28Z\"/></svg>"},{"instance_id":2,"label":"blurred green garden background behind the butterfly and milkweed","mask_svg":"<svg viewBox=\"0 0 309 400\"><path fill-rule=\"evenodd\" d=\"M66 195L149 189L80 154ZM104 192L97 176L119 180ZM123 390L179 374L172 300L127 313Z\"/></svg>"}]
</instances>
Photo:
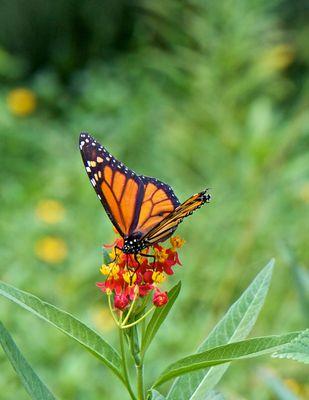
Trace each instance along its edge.
<instances>
[{"instance_id":1,"label":"blurred green garden background behind the butterfly and milkweed","mask_svg":"<svg viewBox=\"0 0 309 400\"><path fill-rule=\"evenodd\" d=\"M1 279L116 343L95 287L113 232L81 162L85 130L180 200L212 188L178 230L183 267L166 286L181 279L183 290L148 381L192 352L273 256L254 335L308 325L308 21L305 0L2 0ZM4 299L0 318L61 399L125 398L63 334ZM2 351L0 371L1 399L27 399ZM219 388L284 399L265 371L309 397L303 366L267 358L233 365Z\"/></svg>"}]
</instances>

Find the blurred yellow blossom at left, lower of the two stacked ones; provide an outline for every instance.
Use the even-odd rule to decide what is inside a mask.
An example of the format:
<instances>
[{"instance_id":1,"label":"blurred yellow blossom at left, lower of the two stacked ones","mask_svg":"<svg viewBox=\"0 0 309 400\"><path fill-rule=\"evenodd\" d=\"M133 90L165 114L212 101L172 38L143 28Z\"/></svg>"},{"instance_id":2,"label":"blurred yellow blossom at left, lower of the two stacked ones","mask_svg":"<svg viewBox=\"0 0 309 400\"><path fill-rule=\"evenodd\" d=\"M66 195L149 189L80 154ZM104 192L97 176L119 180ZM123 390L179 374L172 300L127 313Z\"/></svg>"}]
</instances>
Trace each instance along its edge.
<instances>
[{"instance_id":1,"label":"blurred yellow blossom at left, lower of the two stacked ones","mask_svg":"<svg viewBox=\"0 0 309 400\"><path fill-rule=\"evenodd\" d=\"M67 257L67 245L64 240L45 236L35 244L35 254L37 257L50 264L61 263Z\"/></svg>"}]
</instances>

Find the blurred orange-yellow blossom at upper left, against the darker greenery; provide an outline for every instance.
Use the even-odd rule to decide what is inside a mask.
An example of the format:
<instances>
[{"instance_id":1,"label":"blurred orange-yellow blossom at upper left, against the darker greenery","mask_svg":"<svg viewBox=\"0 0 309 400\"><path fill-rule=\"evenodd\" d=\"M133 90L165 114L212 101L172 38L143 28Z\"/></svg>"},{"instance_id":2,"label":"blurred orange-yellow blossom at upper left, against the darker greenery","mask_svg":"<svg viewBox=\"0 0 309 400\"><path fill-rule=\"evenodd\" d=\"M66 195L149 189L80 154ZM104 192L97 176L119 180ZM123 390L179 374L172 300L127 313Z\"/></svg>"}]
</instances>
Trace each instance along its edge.
<instances>
[{"instance_id":1,"label":"blurred orange-yellow blossom at upper left, against the darker greenery","mask_svg":"<svg viewBox=\"0 0 309 400\"><path fill-rule=\"evenodd\" d=\"M26 116L32 114L36 108L35 94L25 88L12 90L7 97L7 104L12 114Z\"/></svg>"}]
</instances>

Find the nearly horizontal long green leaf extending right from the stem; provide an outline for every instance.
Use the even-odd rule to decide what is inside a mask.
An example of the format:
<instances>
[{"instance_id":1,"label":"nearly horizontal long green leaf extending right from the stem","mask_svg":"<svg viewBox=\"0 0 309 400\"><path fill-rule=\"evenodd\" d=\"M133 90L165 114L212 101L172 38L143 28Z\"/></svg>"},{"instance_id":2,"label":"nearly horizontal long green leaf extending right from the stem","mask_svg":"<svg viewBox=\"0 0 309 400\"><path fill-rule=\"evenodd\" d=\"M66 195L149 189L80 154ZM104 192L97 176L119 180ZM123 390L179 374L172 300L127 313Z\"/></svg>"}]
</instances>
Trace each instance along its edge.
<instances>
[{"instance_id":1,"label":"nearly horizontal long green leaf extending right from the stem","mask_svg":"<svg viewBox=\"0 0 309 400\"><path fill-rule=\"evenodd\" d=\"M273 352L280 346L291 342L299 334L300 332L292 332L284 335L257 337L215 347L203 353L193 354L167 367L153 387L191 371Z\"/></svg>"}]
</instances>

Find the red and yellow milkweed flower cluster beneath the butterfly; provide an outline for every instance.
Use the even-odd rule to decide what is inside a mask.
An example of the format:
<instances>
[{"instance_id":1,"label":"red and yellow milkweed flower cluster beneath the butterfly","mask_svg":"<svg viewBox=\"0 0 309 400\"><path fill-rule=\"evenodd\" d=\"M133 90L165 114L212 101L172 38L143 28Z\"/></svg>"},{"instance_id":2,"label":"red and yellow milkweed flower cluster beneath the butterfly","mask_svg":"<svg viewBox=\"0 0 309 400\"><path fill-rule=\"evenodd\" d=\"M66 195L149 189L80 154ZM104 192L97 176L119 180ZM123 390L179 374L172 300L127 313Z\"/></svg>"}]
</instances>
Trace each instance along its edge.
<instances>
[{"instance_id":1,"label":"red and yellow milkweed flower cluster beneath the butterfly","mask_svg":"<svg viewBox=\"0 0 309 400\"><path fill-rule=\"evenodd\" d=\"M173 267L181 265L177 250L182 247L184 240L179 236L170 238L170 247L165 248L155 244L143 250L142 254L125 254L120 249L123 239L117 238L109 249L111 262L103 264L100 272L106 277L97 286L108 295L114 295L114 307L125 310L136 298L153 294L152 302L161 307L168 302L166 292L159 285L166 280L167 275L173 275Z\"/></svg>"}]
</instances>

